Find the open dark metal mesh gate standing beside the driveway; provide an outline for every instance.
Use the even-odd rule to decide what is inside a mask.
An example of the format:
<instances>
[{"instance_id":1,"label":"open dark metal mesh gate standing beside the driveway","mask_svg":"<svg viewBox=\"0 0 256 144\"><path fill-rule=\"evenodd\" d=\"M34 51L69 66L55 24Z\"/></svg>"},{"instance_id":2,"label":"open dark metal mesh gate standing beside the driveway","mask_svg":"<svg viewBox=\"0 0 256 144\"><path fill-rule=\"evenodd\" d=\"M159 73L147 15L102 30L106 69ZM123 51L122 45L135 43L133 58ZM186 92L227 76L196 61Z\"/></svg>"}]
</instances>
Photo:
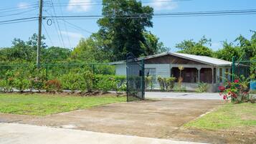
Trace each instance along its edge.
<instances>
[{"instance_id":1,"label":"open dark metal mesh gate standing beside the driveway","mask_svg":"<svg viewBox=\"0 0 256 144\"><path fill-rule=\"evenodd\" d=\"M126 55L127 102L145 99L145 72L143 59L132 53Z\"/></svg>"}]
</instances>

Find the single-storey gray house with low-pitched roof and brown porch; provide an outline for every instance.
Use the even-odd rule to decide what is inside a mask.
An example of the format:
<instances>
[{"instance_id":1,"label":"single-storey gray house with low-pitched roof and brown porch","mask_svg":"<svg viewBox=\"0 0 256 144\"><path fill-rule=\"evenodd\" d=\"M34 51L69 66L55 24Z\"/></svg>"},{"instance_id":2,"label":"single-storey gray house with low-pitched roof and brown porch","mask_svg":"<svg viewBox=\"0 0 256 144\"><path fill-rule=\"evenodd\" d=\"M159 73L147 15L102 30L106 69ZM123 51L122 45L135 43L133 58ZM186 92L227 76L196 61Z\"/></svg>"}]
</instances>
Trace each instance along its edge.
<instances>
[{"instance_id":1,"label":"single-storey gray house with low-pitched roof and brown porch","mask_svg":"<svg viewBox=\"0 0 256 144\"><path fill-rule=\"evenodd\" d=\"M184 67L181 71L183 85L186 90L195 90L198 82L209 84L209 92L217 92L217 87L222 85L224 80L229 80L232 62L213 57L198 56L181 53L162 53L148 57L141 57L145 62L145 74L151 75L154 87L159 88L157 77L179 77L179 67ZM126 75L125 61L112 62L115 65L116 75Z\"/></svg>"}]
</instances>

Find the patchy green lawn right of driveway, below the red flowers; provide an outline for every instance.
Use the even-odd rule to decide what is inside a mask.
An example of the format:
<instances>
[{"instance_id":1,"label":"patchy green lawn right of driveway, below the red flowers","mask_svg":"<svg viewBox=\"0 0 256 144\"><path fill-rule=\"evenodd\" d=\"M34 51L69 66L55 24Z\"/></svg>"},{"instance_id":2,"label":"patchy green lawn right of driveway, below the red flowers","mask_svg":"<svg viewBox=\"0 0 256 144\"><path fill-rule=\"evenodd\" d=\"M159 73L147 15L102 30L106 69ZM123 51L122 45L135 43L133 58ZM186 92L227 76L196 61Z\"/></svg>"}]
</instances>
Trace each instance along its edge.
<instances>
[{"instance_id":1,"label":"patchy green lawn right of driveway, below the red flowers","mask_svg":"<svg viewBox=\"0 0 256 144\"><path fill-rule=\"evenodd\" d=\"M207 115L184 125L186 128L207 130L232 130L247 126L256 126L256 104L227 103L214 112L209 112Z\"/></svg>"}]
</instances>

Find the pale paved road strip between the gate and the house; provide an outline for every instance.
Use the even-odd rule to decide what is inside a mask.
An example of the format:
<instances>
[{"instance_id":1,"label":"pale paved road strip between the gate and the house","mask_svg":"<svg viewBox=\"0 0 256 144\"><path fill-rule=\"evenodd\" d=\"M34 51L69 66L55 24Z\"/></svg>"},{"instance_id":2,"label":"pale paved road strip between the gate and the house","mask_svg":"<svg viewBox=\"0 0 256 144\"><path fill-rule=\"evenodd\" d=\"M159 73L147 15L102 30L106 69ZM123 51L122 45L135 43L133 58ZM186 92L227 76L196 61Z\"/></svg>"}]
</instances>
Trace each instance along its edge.
<instances>
[{"instance_id":1,"label":"pale paved road strip between the gate and the house","mask_svg":"<svg viewBox=\"0 0 256 144\"><path fill-rule=\"evenodd\" d=\"M219 93L193 93L193 92L146 92L146 98L176 98L176 99L202 99L222 100Z\"/></svg>"}]
</instances>

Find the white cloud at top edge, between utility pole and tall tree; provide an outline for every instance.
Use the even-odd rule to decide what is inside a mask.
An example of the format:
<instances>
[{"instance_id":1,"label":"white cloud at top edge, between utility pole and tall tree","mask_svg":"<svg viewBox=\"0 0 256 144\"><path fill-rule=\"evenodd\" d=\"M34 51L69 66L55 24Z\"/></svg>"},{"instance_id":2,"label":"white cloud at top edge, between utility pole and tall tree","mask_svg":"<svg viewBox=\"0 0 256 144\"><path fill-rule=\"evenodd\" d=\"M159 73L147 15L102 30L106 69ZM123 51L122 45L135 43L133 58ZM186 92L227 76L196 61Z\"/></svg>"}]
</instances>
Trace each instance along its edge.
<instances>
[{"instance_id":1,"label":"white cloud at top edge, between utility pole and tall tree","mask_svg":"<svg viewBox=\"0 0 256 144\"><path fill-rule=\"evenodd\" d=\"M68 11L90 11L92 0L70 0L67 6Z\"/></svg>"}]
</instances>

